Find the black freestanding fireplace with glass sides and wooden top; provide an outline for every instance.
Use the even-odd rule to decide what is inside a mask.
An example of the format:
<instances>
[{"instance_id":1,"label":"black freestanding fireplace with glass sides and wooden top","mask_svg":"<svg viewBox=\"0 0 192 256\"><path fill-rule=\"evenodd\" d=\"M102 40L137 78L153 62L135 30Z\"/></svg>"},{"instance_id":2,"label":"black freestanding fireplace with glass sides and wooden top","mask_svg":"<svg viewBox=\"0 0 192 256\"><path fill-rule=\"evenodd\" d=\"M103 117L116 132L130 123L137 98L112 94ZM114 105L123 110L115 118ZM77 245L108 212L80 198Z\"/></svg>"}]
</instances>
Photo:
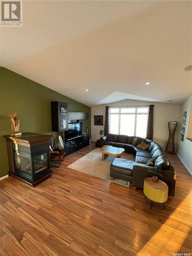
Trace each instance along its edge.
<instances>
[{"instance_id":1,"label":"black freestanding fireplace with glass sides and wooden top","mask_svg":"<svg viewBox=\"0 0 192 256\"><path fill-rule=\"evenodd\" d=\"M7 141L9 176L36 186L52 175L49 162L50 135L23 133L16 137L4 137Z\"/></svg>"}]
</instances>

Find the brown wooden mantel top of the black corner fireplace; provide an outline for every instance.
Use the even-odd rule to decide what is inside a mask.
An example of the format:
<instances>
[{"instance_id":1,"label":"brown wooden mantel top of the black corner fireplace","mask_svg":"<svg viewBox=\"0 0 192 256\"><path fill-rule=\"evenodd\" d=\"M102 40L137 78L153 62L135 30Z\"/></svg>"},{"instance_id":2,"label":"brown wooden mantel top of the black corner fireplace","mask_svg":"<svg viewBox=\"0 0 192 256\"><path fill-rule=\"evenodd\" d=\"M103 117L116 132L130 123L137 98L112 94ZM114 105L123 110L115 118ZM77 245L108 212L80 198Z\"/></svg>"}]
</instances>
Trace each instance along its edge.
<instances>
[{"instance_id":1,"label":"brown wooden mantel top of the black corner fireplace","mask_svg":"<svg viewBox=\"0 0 192 256\"><path fill-rule=\"evenodd\" d=\"M26 146L35 146L51 141L51 135L38 133L22 133L18 136L4 135L4 137L7 141Z\"/></svg>"}]
</instances>

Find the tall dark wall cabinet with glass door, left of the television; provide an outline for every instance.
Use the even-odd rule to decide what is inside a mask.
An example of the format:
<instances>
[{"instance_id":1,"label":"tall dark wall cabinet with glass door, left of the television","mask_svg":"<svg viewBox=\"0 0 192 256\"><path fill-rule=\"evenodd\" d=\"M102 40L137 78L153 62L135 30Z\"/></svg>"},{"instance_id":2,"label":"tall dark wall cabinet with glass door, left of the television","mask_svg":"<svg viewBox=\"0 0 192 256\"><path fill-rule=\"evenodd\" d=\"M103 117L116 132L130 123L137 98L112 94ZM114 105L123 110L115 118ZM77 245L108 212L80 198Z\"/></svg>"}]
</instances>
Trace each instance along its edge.
<instances>
[{"instance_id":1,"label":"tall dark wall cabinet with glass door, left of the television","mask_svg":"<svg viewBox=\"0 0 192 256\"><path fill-rule=\"evenodd\" d=\"M68 103L60 101L51 102L52 131L63 132L68 130L69 111Z\"/></svg>"}]
</instances>

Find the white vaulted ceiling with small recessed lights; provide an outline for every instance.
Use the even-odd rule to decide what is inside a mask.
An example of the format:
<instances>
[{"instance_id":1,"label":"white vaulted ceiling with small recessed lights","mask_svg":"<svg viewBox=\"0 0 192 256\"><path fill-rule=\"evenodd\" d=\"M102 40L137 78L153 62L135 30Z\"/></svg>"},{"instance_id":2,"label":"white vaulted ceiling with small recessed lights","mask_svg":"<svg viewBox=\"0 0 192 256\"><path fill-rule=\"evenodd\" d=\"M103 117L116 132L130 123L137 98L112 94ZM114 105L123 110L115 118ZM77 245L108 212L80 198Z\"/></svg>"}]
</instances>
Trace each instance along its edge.
<instances>
[{"instance_id":1,"label":"white vaulted ceiling with small recessed lights","mask_svg":"<svg viewBox=\"0 0 192 256\"><path fill-rule=\"evenodd\" d=\"M1 28L0 64L90 106L181 103L191 28L191 1L24 1L23 27Z\"/></svg>"}]
</instances>

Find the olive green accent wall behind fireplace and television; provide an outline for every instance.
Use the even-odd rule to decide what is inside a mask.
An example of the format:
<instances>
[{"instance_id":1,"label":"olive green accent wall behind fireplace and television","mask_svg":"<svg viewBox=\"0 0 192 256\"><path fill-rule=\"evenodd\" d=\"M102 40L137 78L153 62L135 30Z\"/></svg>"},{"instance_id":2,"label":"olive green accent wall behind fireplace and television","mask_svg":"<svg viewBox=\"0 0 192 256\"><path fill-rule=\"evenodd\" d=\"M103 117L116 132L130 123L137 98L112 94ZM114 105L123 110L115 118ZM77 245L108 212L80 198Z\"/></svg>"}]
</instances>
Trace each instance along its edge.
<instances>
[{"instance_id":1,"label":"olive green accent wall behind fireplace and television","mask_svg":"<svg viewBox=\"0 0 192 256\"><path fill-rule=\"evenodd\" d=\"M0 67L0 177L7 175L9 170L6 140L3 137L12 133L7 115L17 113L20 119L19 132L53 134L57 141L58 135L62 133L51 131L51 101L68 102L69 111L89 113L89 119L82 122L83 132L89 127L91 133L89 106Z\"/></svg>"}]
</instances>

